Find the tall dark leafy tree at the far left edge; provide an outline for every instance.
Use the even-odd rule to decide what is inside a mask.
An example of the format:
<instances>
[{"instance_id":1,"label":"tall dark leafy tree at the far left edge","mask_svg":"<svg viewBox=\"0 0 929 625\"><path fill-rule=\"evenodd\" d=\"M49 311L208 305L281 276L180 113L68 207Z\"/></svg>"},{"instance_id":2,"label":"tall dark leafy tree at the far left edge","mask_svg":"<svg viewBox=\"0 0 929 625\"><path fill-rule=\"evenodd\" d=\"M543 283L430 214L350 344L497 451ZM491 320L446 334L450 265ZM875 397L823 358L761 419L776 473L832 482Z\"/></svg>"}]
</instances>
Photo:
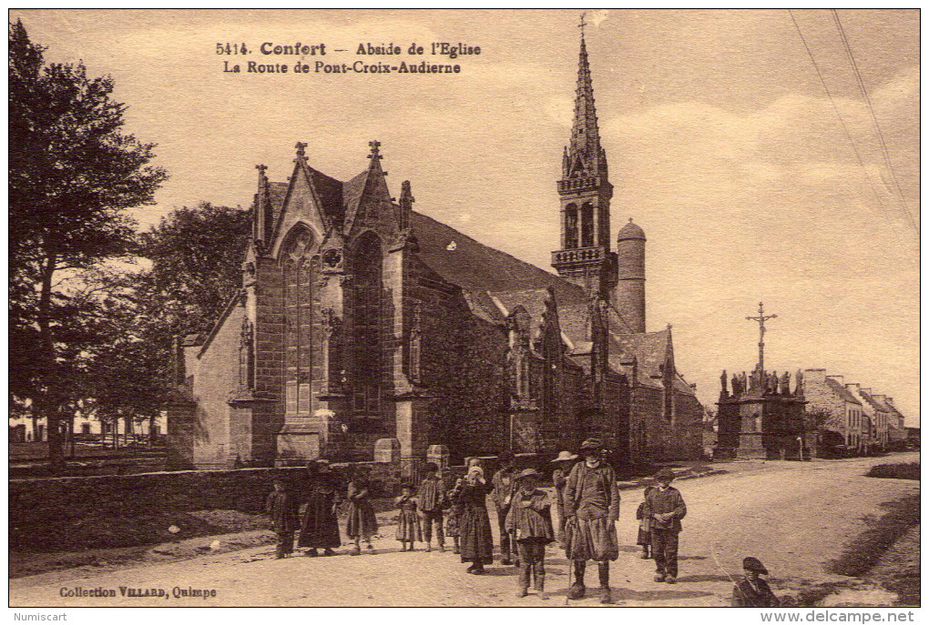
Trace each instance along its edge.
<instances>
[{"instance_id":1,"label":"tall dark leafy tree at the far left edge","mask_svg":"<svg viewBox=\"0 0 929 625\"><path fill-rule=\"evenodd\" d=\"M111 78L88 77L80 62L46 64L44 50L20 21L9 25L10 392L47 418L57 465L73 355L88 339L74 327L84 300L60 278L132 251L126 210L152 203L166 174L150 165L154 144L123 132Z\"/></svg>"}]
</instances>

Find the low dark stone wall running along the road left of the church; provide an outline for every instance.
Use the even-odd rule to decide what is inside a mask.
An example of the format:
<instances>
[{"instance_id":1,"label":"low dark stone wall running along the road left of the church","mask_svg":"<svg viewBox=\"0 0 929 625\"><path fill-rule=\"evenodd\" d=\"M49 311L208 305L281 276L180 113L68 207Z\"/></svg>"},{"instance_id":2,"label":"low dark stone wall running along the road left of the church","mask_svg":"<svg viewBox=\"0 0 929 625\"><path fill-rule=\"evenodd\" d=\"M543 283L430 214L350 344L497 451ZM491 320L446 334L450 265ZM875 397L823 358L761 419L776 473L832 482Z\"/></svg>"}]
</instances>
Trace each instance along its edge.
<instances>
[{"instance_id":1,"label":"low dark stone wall running along the road left of the church","mask_svg":"<svg viewBox=\"0 0 929 625\"><path fill-rule=\"evenodd\" d=\"M351 471L370 471L373 497L394 496L398 463L333 465L347 484ZM36 546L43 536L58 535L93 519L155 517L165 512L237 510L263 513L275 479L283 480L299 499L307 493L307 470L256 468L226 471L175 471L124 476L11 479L9 545Z\"/></svg>"}]
</instances>

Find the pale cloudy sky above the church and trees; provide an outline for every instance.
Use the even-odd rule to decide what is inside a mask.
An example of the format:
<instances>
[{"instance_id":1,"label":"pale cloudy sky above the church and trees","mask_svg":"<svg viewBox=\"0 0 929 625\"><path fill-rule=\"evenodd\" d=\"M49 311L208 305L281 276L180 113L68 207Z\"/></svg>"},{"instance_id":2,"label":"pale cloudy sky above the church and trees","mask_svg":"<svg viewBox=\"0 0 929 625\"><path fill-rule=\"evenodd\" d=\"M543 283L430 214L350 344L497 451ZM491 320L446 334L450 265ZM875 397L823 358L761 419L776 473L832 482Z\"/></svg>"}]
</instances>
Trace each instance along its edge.
<instances>
[{"instance_id":1,"label":"pale cloudy sky above the church and trees","mask_svg":"<svg viewBox=\"0 0 929 625\"><path fill-rule=\"evenodd\" d=\"M648 330L673 326L678 369L712 404L722 369L822 367L894 398L919 424L919 11L840 10L872 108L830 11L597 10L586 41L612 231L648 236ZM255 164L283 181L294 144L346 180L381 141L387 184L415 209L550 269L578 11L25 10L46 59L110 74L126 130L171 178L141 227L200 201L247 208ZM275 45L324 43L330 63L458 63L458 74L256 74ZM217 43L245 43L242 57ZM357 56L360 44L480 46L444 57ZM347 52L334 52L345 49ZM838 115L836 113L838 110ZM887 159L873 118L883 133ZM840 121L841 120L841 121ZM851 137L851 142L848 136ZM898 188L899 187L899 190ZM902 191L902 195L901 192Z\"/></svg>"}]
</instances>

